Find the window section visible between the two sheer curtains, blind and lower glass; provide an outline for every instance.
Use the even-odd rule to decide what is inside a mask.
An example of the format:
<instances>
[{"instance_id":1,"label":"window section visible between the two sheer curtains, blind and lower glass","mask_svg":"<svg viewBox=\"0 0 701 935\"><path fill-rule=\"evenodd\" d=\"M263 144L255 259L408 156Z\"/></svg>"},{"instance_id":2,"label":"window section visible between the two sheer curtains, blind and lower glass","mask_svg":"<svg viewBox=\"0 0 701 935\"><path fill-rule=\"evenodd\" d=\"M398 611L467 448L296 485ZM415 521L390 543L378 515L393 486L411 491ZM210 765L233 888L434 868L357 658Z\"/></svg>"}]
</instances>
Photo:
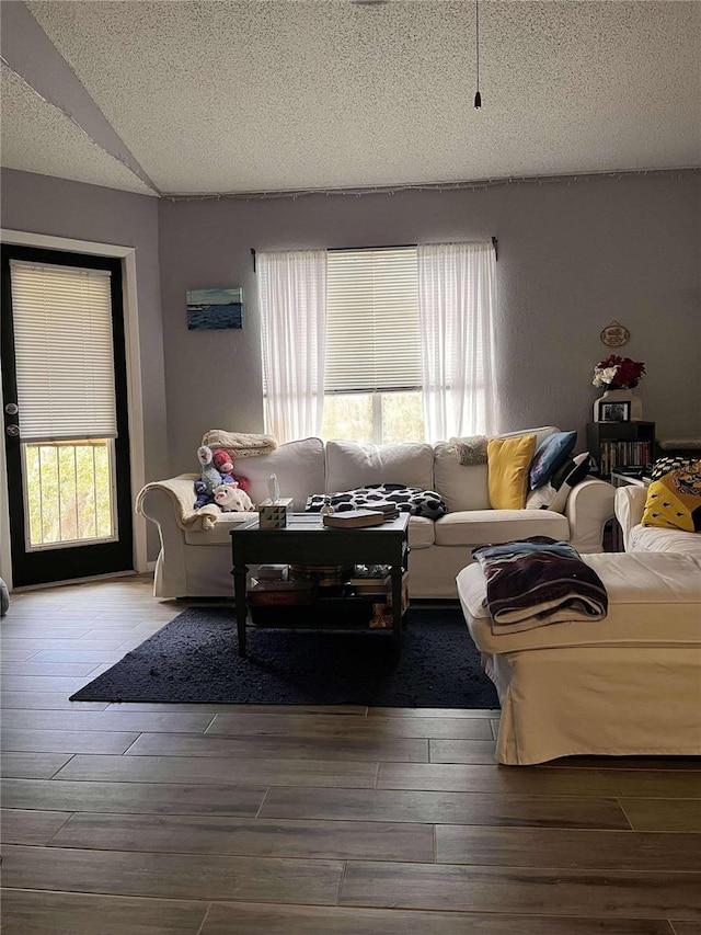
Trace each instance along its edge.
<instances>
[{"instance_id":1,"label":"window section visible between the two sheer curtains, blind and lower glass","mask_svg":"<svg viewBox=\"0 0 701 935\"><path fill-rule=\"evenodd\" d=\"M327 254L324 438L422 441L415 247Z\"/></svg>"}]
</instances>

